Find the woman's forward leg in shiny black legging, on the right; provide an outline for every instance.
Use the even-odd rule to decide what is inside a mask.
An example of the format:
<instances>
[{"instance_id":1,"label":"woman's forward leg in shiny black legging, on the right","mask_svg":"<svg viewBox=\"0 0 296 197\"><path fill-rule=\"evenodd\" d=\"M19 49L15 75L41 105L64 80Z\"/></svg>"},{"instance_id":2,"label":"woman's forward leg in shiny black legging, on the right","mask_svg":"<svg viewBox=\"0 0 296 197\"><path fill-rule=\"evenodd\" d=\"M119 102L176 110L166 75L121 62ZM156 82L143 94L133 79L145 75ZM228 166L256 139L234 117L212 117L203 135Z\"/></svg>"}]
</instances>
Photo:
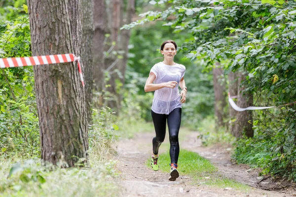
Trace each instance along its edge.
<instances>
[{"instance_id":1,"label":"woman's forward leg in shiny black legging, on the right","mask_svg":"<svg viewBox=\"0 0 296 197\"><path fill-rule=\"evenodd\" d=\"M181 114L182 108L174 109L168 115L168 128L169 128L169 135L170 135L170 157L171 157L171 164L178 164L179 158L179 130L181 125Z\"/></svg>"}]
</instances>

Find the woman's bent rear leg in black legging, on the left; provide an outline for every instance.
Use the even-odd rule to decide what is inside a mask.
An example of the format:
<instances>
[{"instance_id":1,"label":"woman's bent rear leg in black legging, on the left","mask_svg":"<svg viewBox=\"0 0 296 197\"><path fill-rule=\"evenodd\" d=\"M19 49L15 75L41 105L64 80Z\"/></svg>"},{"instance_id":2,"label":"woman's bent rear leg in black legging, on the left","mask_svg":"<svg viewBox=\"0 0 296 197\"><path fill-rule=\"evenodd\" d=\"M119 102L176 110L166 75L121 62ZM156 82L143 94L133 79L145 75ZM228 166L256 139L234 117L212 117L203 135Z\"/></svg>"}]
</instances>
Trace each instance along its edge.
<instances>
[{"instance_id":1,"label":"woman's bent rear leg in black legging, on the left","mask_svg":"<svg viewBox=\"0 0 296 197\"><path fill-rule=\"evenodd\" d=\"M153 154L158 154L158 149L165 137L165 127L166 127L166 115L157 114L151 110L152 120L154 124L156 136L152 139L153 144Z\"/></svg>"}]
</instances>

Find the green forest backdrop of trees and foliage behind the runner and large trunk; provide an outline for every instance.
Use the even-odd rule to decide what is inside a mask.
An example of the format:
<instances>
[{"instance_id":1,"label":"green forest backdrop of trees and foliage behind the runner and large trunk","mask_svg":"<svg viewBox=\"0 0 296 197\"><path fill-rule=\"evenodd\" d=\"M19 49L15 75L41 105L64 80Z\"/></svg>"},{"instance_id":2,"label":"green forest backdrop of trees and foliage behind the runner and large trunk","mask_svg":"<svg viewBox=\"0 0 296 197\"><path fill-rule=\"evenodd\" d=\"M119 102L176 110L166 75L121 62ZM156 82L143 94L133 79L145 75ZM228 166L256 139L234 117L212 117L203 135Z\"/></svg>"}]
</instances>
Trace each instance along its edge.
<instances>
[{"instance_id":1,"label":"green forest backdrop of trees and foliage behind the runner and large trunk","mask_svg":"<svg viewBox=\"0 0 296 197\"><path fill-rule=\"evenodd\" d=\"M2 0L0 5L0 58L32 56L26 0ZM205 144L231 143L237 163L296 181L295 105L286 105L296 100L295 6L295 1L284 0L104 2L105 10L94 12L90 28L94 38L103 35L101 45L94 39L92 49L103 51L88 58L93 60L94 75L84 67L86 82L93 82L85 89L92 95L87 101L92 111L90 153L110 148L114 130L116 135L132 137L127 130L145 129L151 121L153 94L144 93L144 85L151 66L162 61L160 44L173 39L178 43L175 62L186 66L183 126L200 131ZM102 13L108 14L104 18ZM83 19L86 34L89 29ZM40 158L34 83L30 66L1 69L1 162ZM235 112L228 106L227 92L237 96L234 100L240 107L278 107ZM43 176L35 173L32 180L42 183ZM26 182L24 177L20 179ZM4 185L0 190L5 190Z\"/></svg>"}]
</instances>

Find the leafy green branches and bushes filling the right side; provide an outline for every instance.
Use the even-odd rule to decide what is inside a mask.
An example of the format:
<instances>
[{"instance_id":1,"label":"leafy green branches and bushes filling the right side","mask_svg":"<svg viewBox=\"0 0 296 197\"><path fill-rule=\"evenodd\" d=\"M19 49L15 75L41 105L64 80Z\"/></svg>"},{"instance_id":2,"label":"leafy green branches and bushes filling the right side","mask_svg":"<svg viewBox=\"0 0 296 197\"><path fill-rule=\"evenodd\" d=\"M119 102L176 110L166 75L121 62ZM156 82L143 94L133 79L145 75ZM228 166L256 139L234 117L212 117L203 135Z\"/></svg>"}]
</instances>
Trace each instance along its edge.
<instances>
[{"instance_id":1,"label":"leafy green branches and bushes filling the right side","mask_svg":"<svg viewBox=\"0 0 296 197\"><path fill-rule=\"evenodd\" d=\"M158 2L160 0L153 1L152 4L158 6ZM249 76L244 83L245 92L256 93L260 98L258 105L274 104L284 108L268 115L262 112L254 119L254 123L257 122L254 124L254 139L241 139L237 144L238 153L242 151L242 157L245 159L242 159L240 154L235 154L235 158L239 162L249 164L261 162L259 165L266 169L266 172L296 180L296 108L295 105L284 105L296 100L296 2L168 2L170 3L165 3L166 7L158 6L162 10L146 12L141 15L142 19L124 28L157 19L166 20L163 25L174 28L175 33L185 32L192 35L191 39L182 45L182 49L188 53L187 58L203 59L208 67L215 62L230 61L224 67L225 74L239 69L248 71ZM170 18L172 15L175 16L173 20ZM261 118L263 121L260 121ZM244 142L249 142L249 149L244 149ZM269 146L265 142L268 142ZM254 152L248 151L253 146L258 151L256 157L253 157ZM279 159L281 157L282 159Z\"/></svg>"}]
</instances>

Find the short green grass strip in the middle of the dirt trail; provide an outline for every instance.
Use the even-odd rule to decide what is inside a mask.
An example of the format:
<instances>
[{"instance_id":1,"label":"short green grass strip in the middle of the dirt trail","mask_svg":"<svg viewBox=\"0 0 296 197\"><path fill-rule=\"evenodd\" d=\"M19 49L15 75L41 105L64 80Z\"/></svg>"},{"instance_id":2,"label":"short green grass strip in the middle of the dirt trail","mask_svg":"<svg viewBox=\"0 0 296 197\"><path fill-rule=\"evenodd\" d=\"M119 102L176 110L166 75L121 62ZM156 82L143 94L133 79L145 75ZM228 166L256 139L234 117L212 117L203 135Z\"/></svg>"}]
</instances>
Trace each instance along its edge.
<instances>
[{"instance_id":1,"label":"short green grass strip in the middle of the dirt trail","mask_svg":"<svg viewBox=\"0 0 296 197\"><path fill-rule=\"evenodd\" d=\"M218 188L233 188L240 191L248 191L249 186L238 183L229 178L223 177L218 172L218 168L211 162L197 153L187 150L181 150L178 160L178 170L181 176L192 177L193 185L209 185ZM161 154L159 157L160 170L165 173L170 172L170 155L169 151ZM150 167L150 158L147 166Z\"/></svg>"}]
</instances>

